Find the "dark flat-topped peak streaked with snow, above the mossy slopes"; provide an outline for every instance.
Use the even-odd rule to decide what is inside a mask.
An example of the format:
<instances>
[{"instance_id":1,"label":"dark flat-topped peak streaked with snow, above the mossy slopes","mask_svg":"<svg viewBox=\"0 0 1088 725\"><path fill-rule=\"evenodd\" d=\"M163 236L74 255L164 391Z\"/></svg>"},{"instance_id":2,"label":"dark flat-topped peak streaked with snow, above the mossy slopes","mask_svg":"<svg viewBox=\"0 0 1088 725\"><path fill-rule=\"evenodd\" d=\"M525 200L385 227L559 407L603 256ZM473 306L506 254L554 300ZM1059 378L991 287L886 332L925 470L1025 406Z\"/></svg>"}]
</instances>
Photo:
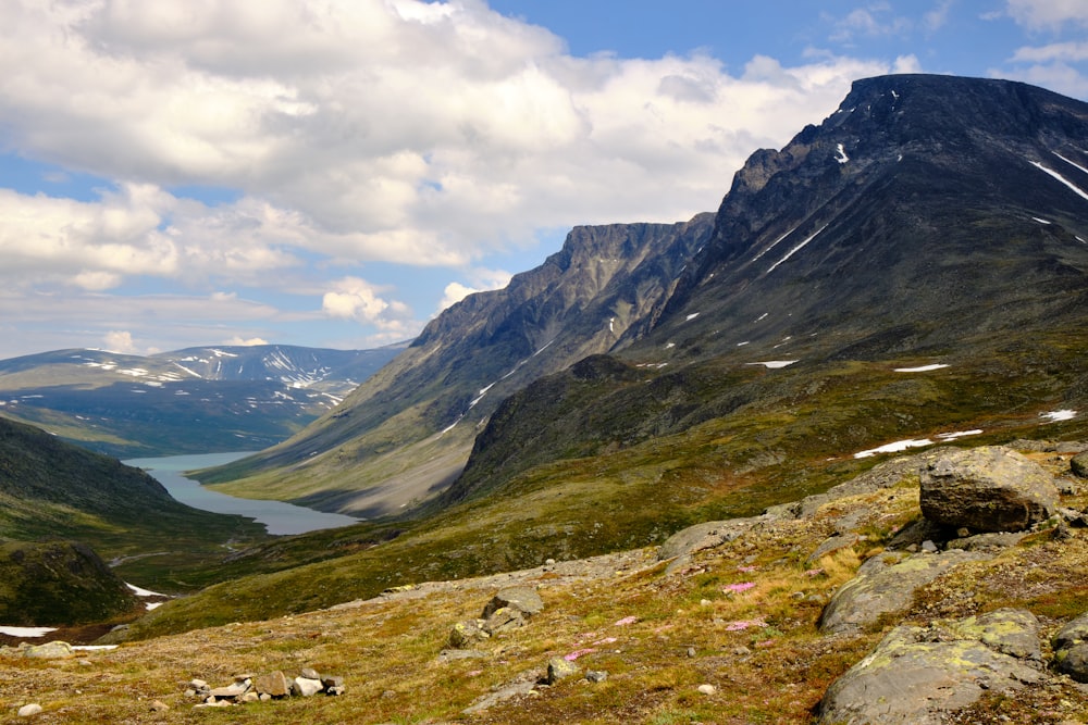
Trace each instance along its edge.
<instances>
[{"instance_id":1,"label":"dark flat-topped peak streaked with snow, above the mossy slopes","mask_svg":"<svg viewBox=\"0 0 1088 725\"><path fill-rule=\"evenodd\" d=\"M858 82L824 124L737 174L654 338L706 357L878 336L871 357L1076 315L1086 138L1088 107L1024 84Z\"/></svg>"}]
</instances>

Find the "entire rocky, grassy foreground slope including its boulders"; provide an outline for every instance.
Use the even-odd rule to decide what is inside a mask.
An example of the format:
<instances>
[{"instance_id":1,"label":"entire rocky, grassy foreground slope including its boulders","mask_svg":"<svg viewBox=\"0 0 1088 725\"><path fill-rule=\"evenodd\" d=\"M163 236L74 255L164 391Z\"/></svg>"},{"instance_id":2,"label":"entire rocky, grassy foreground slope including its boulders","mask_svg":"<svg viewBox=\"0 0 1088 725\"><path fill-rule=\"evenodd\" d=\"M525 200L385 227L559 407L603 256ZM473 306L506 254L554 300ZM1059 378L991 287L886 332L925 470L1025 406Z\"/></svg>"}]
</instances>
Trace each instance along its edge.
<instances>
[{"instance_id":1,"label":"entire rocky, grassy foreground slope including its boulders","mask_svg":"<svg viewBox=\"0 0 1088 725\"><path fill-rule=\"evenodd\" d=\"M193 683L222 680L254 695L217 707L262 723L1084 723L1086 448L937 449L659 549L57 659L2 648L0 712L189 722L212 691ZM290 686L319 672L341 697ZM276 673L275 696L244 684Z\"/></svg>"}]
</instances>

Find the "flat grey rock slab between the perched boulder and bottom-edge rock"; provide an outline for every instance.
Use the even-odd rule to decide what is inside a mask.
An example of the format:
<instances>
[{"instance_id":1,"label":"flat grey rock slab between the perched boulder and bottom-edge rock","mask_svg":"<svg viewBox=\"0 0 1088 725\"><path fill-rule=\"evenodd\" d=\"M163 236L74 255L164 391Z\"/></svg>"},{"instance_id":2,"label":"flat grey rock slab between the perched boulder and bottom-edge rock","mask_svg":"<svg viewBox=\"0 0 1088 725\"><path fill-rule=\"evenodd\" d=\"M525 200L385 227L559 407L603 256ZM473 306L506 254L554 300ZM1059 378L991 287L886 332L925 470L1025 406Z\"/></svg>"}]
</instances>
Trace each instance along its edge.
<instances>
[{"instance_id":1,"label":"flat grey rock slab between the perched boulder and bottom-edge rock","mask_svg":"<svg viewBox=\"0 0 1088 725\"><path fill-rule=\"evenodd\" d=\"M915 590L957 564L988 559L981 552L945 551L941 554L904 557L877 554L857 570L853 579L839 587L820 616L826 634L855 633L881 615L905 610Z\"/></svg>"}]
</instances>

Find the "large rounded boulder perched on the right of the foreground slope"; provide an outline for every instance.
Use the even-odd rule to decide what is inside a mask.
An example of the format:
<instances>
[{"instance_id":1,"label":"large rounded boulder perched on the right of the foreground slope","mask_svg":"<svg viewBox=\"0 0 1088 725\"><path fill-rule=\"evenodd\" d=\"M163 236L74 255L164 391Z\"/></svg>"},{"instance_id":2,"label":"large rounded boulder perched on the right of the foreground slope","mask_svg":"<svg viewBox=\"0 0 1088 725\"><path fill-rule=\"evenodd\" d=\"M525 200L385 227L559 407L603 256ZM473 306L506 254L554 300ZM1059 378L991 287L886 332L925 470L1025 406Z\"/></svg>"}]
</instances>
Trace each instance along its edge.
<instances>
[{"instance_id":1,"label":"large rounded boulder perched on the right of the foreground slope","mask_svg":"<svg viewBox=\"0 0 1088 725\"><path fill-rule=\"evenodd\" d=\"M973 532L1021 532L1058 509L1058 486L1042 466L999 446L949 451L922 468L923 515Z\"/></svg>"}]
</instances>

